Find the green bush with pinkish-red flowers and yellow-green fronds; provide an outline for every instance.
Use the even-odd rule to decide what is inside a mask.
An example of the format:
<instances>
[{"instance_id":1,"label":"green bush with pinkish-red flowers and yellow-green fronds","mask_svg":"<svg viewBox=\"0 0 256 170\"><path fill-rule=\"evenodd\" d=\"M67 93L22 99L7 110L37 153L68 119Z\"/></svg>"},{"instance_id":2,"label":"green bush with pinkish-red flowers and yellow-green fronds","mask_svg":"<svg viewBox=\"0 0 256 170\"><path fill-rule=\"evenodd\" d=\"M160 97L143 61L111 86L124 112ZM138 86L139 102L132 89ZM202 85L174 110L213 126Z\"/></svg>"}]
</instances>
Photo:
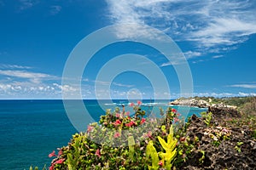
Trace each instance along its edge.
<instances>
[{"instance_id":1,"label":"green bush with pinkish-red flowers and yellow-green fronds","mask_svg":"<svg viewBox=\"0 0 256 170\"><path fill-rule=\"evenodd\" d=\"M170 133L177 111L169 108L161 118L143 117L145 111L141 110L141 104L138 101L137 105L130 105L134 116L119 108L113 113L108 110L99 123L88 126L86 133L74 134L71 142L59 150L49 169L148 169L153 163L146 154L148 144L161 155L157 167L170 169L172 160L165 154L172 153L176 145L176 142L172 146L168 144L176 141L171 140ZM176 150L173 154L174 158ZM56 156L55 151L51 156Z\"/></svg>"}]
</instances>

